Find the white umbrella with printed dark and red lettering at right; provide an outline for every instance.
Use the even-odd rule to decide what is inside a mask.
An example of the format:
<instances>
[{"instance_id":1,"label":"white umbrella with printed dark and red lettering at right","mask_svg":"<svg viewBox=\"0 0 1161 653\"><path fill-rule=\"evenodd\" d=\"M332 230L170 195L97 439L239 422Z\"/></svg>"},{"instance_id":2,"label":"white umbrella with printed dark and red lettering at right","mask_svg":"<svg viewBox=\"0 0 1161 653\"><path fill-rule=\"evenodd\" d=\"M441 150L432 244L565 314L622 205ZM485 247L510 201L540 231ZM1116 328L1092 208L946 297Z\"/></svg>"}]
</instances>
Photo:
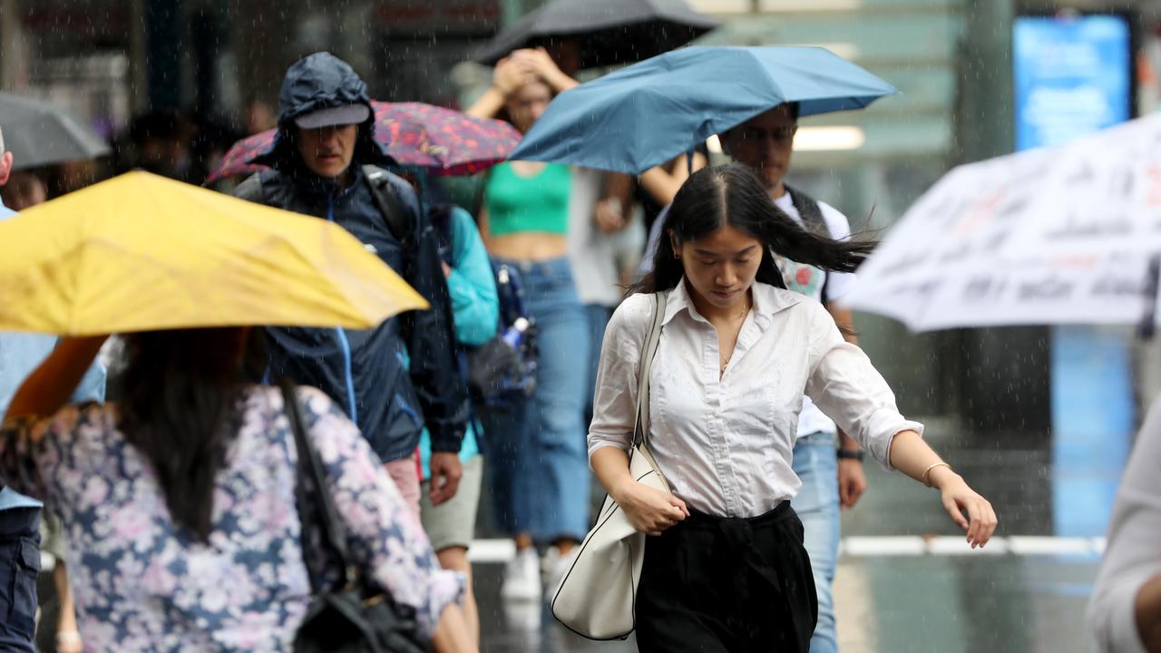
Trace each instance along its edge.
<instances>
[{"instance_id":1,"label":"white umbrella with printed dark and red lettering at right","mask_svg":"<svg viewBox=\"0 0 1161 653\"><path fill-rule=\"evenodd\" d=\"M959 166L911 206L843 297L916 331L1134 324L1161 254L1161 115Z\"/></svg>"}]
</instances>

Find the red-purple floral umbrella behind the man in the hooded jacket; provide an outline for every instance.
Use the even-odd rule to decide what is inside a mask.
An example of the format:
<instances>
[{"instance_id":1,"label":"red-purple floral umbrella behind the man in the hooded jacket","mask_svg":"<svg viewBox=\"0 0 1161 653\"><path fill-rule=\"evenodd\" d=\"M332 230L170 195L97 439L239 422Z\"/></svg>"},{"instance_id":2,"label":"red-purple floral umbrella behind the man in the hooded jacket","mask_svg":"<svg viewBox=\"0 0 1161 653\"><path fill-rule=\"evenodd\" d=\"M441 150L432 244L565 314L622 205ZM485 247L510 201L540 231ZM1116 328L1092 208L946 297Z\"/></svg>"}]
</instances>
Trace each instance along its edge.
<instances>
[{"instance_id":1,"label":"red-purple floral umbrella behind the man in the hooded jacket","mask_svg":"<svg viewBox=\"0 0 1161 653\"><path fill-rule=\"evenodd\" d=\"M506 122L478 119L423 102L372 102L375 141L401 165L424 167L431 174L475 174L503 160L520 142ZM266 166L250 163L274 145L271 129L238 141L205 179L250 174Z\"/></svg>"}]
</instances>

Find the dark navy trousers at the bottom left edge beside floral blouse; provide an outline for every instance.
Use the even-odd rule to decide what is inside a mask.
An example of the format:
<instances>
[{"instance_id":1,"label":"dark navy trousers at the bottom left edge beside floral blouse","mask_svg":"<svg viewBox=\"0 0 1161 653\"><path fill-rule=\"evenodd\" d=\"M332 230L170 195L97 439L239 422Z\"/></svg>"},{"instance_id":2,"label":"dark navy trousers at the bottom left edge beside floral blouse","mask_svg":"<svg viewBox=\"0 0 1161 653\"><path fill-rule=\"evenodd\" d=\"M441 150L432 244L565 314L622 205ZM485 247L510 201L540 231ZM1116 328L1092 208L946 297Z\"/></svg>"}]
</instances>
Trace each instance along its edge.
<instances>
[{"instance_id":1,"label":"dark navy trousers at the bottom left edge beside floral blouse","mask_svg":"<svg viewBox=\"0 0 1161 653\"><path fill-rule=\"evenodd\" d=\"M33 653L41 509L0 510L0 651Z\"/></svg>"}]
</instances>

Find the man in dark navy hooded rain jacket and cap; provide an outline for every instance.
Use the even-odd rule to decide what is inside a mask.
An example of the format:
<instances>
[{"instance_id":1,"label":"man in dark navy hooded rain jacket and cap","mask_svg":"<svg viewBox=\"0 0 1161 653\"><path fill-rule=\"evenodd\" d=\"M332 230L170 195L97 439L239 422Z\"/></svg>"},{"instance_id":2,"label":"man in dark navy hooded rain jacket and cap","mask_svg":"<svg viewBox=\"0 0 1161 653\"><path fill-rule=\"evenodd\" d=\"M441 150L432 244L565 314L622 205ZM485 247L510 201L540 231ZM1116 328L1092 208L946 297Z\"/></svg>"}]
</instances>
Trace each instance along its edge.
<instances>
[{"instance_id":1,"label":"man in dark navy hooded rain jacket and cap","mask_svg":"<svg viewBox=\"0 0 1161 653\"><path fill-rule=\"evenodd\" d=\"M411 186L374 167L392 160L374 139L367 85L346 62L327 52L301 59L287 70L279 101L274 145L252 160L273 170L235 194L340 224L431 309L363 331L269 328L271 373L344 407L418 516L420 431L431 432L431 495L441 503L455 495L469 415L435 234Z\"/></svg>"}]
</instances>

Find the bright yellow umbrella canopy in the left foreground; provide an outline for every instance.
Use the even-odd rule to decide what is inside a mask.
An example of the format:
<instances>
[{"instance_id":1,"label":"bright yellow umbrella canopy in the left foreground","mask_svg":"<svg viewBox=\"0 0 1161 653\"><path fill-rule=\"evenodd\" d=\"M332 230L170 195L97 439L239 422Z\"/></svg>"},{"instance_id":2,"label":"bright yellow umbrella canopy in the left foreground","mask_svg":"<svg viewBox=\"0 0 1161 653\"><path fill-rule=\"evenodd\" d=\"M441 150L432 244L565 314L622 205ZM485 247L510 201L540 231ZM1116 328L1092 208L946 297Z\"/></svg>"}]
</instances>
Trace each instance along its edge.
<instances>
[{"instance_id":1,"label":"bright yellow umbrella canopy in the left foreground","mask_svg":"<svg viewBox=\"0 0 1161 653\"><path fill-rule=\"evenodd\" d=\"M370 328L421 308L341 227L147 172L0 221L0 330Z\"/></svg>"}]
</instances>

